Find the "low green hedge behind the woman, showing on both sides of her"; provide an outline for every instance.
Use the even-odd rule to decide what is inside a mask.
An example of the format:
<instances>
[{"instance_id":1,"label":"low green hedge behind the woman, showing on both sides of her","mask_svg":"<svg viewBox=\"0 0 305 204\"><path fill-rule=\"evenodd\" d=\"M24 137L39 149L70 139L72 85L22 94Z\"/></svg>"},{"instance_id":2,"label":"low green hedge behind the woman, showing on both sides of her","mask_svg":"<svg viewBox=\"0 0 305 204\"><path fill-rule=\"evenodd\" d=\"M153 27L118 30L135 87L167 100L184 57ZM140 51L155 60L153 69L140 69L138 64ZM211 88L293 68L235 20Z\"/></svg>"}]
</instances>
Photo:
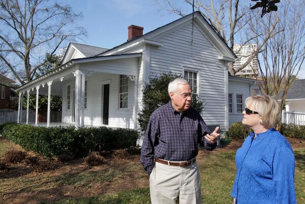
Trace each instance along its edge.
<instances>
[{"instance_id":1,"label":"low green hedge behind the woman, showing on both sides of her","mask_svg":"<svg viewBox=\"0 0 305 204\"><path fill-rule=\"evenodd\" d=\"M235 122L227 131L227 137L230 139L245 139L251 132L251 129L243 125L241 122ZM280 128L281 134L285 137L305 139L305 125L282 124Z\"/></svg>"}]
</instances>

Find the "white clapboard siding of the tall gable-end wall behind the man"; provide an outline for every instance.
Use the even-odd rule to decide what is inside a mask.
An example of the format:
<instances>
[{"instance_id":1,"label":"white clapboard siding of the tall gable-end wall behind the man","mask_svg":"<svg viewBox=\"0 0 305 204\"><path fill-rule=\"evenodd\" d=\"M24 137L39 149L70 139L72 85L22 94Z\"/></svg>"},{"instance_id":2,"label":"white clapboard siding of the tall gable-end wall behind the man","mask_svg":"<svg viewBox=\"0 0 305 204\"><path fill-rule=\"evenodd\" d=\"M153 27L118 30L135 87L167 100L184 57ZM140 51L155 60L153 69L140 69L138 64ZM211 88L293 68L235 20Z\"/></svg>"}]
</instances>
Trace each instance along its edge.
<instances>
[{"instance_id":1,"label":"white clapboard siding of the tall gable-end wall behind the man","mask_svg":"<svg viewBox=\"0 0 305 204\"><path fill-rule=\"evenodd\" d=\"M201 113L207 125L225 128L225 67L218 59L219 52L194 26L193 45L192 24L173 30L156 39L163 46L150 48L150 77L163 72L184 75L184 70L199 71L199 96L205 99Z\"/></svg>"}]
</instances>

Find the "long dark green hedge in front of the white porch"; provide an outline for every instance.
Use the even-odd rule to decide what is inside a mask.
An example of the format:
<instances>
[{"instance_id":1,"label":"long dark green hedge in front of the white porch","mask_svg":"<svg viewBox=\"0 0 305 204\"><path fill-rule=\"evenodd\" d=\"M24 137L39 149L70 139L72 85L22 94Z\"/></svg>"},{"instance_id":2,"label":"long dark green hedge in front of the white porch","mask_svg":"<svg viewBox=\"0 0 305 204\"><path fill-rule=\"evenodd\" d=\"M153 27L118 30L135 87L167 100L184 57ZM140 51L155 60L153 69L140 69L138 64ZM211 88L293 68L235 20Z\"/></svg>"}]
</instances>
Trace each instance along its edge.
<instances>
[{"instance_id":1,"label":"long dark green hedge in front of the white porch","mask_svg":"<svg viewBox=\"0 0 305 204\"><path fill-rule=\"evenodd\" d=\"M25 150L45 157L66 154L80 158L90 151L124 149L134 146L139 134L132 129L108 127L37 127L5 123L0 132L11 142Z\"/></svg>"}]
</instances>

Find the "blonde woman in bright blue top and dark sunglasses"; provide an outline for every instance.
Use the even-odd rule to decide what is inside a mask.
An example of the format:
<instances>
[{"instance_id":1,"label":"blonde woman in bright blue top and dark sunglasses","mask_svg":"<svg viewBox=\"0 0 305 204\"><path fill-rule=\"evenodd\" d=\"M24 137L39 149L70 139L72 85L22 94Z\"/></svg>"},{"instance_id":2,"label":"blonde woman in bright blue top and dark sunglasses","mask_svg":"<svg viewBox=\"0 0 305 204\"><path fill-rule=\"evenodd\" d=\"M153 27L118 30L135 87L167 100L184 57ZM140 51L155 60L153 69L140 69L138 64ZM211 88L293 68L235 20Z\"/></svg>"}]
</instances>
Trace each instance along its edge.
<instances>
[{"instance_id":1,"label":"blonde woman in bright blue top and dark sunglasses","mask_svg":"<svg viewBox=\"0 0 305 204\"><path fill-rule=\"evenodd\" d=\"M253 132L236 152L233 203L296 203L294 155L273 128L281 118L277 101L267 95L246 99L242 124Z\"/></svg>"}]
</instances>

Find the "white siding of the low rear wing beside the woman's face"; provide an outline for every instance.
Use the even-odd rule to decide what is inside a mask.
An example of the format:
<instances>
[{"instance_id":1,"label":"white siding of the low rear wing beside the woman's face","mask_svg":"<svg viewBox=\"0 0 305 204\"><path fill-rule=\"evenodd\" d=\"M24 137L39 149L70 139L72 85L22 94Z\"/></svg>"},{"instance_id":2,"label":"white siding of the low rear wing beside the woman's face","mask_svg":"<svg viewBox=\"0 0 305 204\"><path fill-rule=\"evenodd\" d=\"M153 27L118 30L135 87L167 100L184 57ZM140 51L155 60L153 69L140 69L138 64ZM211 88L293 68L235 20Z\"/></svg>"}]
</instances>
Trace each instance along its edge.
<instances>
[{"instance_id":1,"label":"white siding of the low rear wing beside the woman's face","mask_svg":"<svg viewBox=\"0 0 305 204\"><path fill-rule=\"evenodd\" d=\"M243 114L236 112L236 94L242 94L242 104L245 107L245 100L250 96L250 85L247 82L232 81L229 79L229 93L232 93L232 113L229 113L229 125L234 122L241 122Z\"/></svg>"}]
</instances>

